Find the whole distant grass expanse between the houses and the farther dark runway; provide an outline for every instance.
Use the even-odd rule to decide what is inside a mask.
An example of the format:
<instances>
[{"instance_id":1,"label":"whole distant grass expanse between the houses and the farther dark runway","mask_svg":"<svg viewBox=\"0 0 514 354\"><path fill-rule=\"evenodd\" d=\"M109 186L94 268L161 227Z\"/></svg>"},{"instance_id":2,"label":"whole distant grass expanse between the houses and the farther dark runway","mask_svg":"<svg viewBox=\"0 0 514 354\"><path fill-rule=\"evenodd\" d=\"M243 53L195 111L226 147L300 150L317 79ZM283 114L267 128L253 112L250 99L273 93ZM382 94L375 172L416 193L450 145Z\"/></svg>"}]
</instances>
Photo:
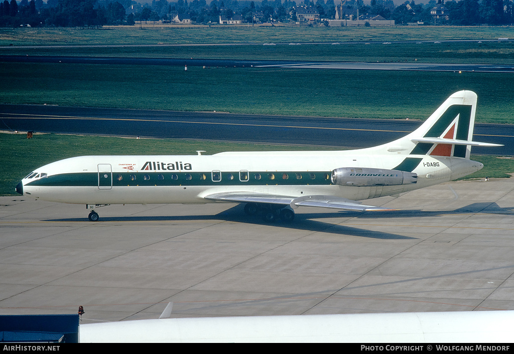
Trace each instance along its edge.
<instances>
[{"instance_id":1,"label":"whole distant grass expanse between the houses and the farther dark runway","mask_svg":"<svg viewBox=\"0 0 514 354\"><path fill-rule=\"evenodd\" d=\"M503 30L498 32L498 30ZM495 30L496 32L493 32ZM514 42L403 42L452 38L496 39L510 35L510 28L117 28L0 29L4 55L109 56L148 58L290 59L315 61L444 62L511 64ZM256 33L259 35L255 38ZM134 36L136 34L136 36ZM363 36L367 34L367 36ZM148 36L147 36L148 35ZM328 37L327 37L328 36ZM342 36L341 38L338 36ZM252 41L251 39L255 39ZM279 40L302 45L263 45ZM278 41L278 42L279 42ZM327 41L311 44L309 42ZM350 44L332 45L348 41ZM370 41L370 42L368 42ZM377 42L373 42L377 41ZM390 43L390 44L383 44ZM230 45L219 45L219 43ZM158 44L161 43L161 44ZM211 45L196 45L210 43ZM246 44L245 44L246 43ZM251 43L251 44L249 44ZM29 44L42 45L31 47ZM95 45L111 46L95 46ZM180 44L180 45L178 45ZM57 45L57 46L53 46ZM75 46L79 45L79 47Z\"/></svg>"}]
</instances>

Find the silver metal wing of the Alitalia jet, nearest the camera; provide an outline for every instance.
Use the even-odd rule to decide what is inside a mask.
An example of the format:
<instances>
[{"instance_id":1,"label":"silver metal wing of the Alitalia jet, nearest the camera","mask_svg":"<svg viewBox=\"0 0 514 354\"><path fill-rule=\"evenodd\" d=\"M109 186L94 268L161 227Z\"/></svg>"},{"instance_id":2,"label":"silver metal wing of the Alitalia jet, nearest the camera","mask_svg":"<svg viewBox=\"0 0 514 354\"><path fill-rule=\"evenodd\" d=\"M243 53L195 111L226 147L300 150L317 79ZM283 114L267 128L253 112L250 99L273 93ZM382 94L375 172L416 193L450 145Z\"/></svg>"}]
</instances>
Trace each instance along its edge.
<instances>
[{"instance_id":1,"label":"silver metal wing of the Alitalia jet, nearest the camera","mask_svg":"<svg viewBox=\"0 0 514 354\"><path fill-rule=\"evenodd\" d=\"M210 194L209 196L206 196L204 198L214 200L217 202L282 204L290 205L293 209L296 209L299 206L314 206L319 208L333 208L358 211L394 210L380 206L363 205L355 200L349 200L334 196L290 197L262 193L227 192Z\"/></svg>"}]
</instances>

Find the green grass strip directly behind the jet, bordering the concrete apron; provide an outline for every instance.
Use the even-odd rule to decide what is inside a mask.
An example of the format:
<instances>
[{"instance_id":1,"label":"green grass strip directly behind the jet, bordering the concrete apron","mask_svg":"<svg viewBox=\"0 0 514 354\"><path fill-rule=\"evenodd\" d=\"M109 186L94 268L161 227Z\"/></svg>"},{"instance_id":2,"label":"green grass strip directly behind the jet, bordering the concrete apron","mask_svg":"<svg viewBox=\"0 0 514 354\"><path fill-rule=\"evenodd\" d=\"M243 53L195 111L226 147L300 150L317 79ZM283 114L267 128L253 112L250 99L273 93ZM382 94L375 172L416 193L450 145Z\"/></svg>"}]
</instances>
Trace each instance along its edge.
<instances>
[{"instance_id":1,"label":"green grass strip directly behind the jet, bordering the concrete apron","mask_svg":"<svg viewBox=\"0 0 514 354\"><path fill-rule=\"evenodd\" d=\"M87 135L0 133L0 195L15 194L14 187L30 171L63 158L82 155L178 154L196 155L196 150L212 155L222 151L313 150L307 146L219 143L182 139L134 139ZM328 149L326 149L328 150ZM506 178L514 172L514 161L496 156L472 156L485 167L468 178Z\"/></svg>"}]
</instances>

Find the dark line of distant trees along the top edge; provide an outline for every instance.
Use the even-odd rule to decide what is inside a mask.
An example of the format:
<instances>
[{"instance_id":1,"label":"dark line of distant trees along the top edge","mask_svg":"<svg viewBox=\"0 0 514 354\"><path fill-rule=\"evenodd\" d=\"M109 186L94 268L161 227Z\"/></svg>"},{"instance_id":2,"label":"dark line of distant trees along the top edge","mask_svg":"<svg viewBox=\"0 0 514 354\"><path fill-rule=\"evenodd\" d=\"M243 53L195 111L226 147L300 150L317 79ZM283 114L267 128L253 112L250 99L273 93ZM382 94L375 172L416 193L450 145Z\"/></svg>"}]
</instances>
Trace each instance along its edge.
<instances>
[{"instance_id":1,"label":"dark line of distant trees along the top edge","mask_svg":"<svg viewBox=\"0 0 514 354\"><path fill-rule=\"evenodd\" d=\"M335 1L303 0L298 4L290 0L152 0L140 4L132 0L0 0L0 27L56 26L56 27L100 27L105 25L134 25L136 21L172 21L177 14L186 15L198 24L218 23L219 16L231 19L242 15L249 23L296 21L296 9L308 7L320 13L321 19L334 19ZM513 0L449 0L444 6L449 10L449 19L437 24L448 25L508 25L514 23ZM415 4L414 0L395 6L392 0L371 0L364 5L362 0L345 2L355 7L359 14L381 15L396 24L423 22L432 24L431 10L437 4Z\"/></svg>"}]
</instances>

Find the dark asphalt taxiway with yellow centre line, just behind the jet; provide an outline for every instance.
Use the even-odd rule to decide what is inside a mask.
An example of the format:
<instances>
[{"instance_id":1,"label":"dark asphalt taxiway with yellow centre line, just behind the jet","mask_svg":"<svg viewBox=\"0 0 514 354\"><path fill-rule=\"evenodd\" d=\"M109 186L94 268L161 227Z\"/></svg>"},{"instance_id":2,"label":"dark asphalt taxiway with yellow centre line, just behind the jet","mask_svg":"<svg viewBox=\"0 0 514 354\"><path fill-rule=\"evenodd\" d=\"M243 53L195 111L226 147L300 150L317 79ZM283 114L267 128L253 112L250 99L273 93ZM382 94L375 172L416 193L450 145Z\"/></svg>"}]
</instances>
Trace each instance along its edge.
<instances>
[{"instance_id":1,"label":"dark asphalt taxiway with yellow centre line, just behind the jet","mask_svg":"<svg viewBox=\"0 0 514 354\"><path fill-rule=\"evenodd\" d=\"M389 143L421 121L0 105L0 130L244 141L347 149ZM137 132L137 133L135 133ZM514 125L476 123L474 139L503 144L474 154L514 155Z\"/></svg>"}]
</instances>

